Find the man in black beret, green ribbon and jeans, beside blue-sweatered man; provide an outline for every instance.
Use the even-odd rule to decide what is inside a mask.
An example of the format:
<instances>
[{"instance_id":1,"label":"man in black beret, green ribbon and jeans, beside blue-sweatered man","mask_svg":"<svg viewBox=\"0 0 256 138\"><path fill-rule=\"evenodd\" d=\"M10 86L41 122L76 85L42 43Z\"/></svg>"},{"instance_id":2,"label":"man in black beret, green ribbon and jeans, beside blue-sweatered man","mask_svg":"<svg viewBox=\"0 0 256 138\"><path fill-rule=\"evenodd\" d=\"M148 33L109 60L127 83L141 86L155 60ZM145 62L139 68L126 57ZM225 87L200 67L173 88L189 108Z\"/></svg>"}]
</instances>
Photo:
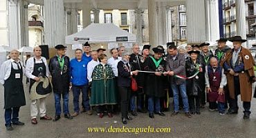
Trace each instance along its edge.
<instances>
[{"instance_id":1,"label":"man in black beret, green ribbon and jeans, beside blue-sweatered man","mask_svg":"<svg viewBox=\"0 0 256 138\"><path fill-rule=\"evenodd\" d=\"M72 119L68 110L68 92L70 83L70 62L69 57L66 56L66 46L57 45L55 46L57 55L52 57L49 62L49 70L52 75L53 92L55 98L55 119L60 119L62 113L60 101L63 99L63 112L64 117Z\"/></svg>"}]
</instances>

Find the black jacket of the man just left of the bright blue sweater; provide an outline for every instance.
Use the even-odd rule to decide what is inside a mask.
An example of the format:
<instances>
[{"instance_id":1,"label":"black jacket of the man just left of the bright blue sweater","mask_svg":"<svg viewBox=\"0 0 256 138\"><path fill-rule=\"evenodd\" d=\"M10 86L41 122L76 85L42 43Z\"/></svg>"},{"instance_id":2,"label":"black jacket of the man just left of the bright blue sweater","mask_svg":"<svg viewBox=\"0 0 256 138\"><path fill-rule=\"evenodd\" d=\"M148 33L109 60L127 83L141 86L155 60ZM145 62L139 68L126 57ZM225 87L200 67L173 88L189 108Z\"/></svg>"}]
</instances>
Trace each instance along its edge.
<instances>
[{"instance_id":1,"label":"black jacket of the man just left of the bright blue sweater","mask_svg":"<svg viewBox=\"0 0 256 138\"><path fill-rule=\"evenodd\" d=\"M52 75L53 92L55 93L65 93L69 90L70 83L70 66L69 57L64 57L64 67L63 70L60 68L60 63L55 56L50 59L49 70Z\"/></svg>"}]
</instances>

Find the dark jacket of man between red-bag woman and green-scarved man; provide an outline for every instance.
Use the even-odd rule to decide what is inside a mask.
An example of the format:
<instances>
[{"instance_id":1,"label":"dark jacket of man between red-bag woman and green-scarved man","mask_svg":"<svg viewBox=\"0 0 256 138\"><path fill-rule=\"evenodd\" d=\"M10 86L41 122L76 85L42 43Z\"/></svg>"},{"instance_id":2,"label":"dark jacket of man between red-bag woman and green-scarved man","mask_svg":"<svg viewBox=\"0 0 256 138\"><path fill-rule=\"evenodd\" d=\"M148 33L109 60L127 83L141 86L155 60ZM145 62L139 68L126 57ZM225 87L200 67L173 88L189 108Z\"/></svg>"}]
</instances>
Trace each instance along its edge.
<instances>
[{"instance_id":1,"label":"dark jacket of man between red-bag woman and green-scarved man","mask_svg":"<svg viewBox=\"0 0 256 138\"><path fill-rule=\"evenodd\" d=\"M129 63L131 65L131 71L134 70L143 70L144 68L144 57L142 55L136 56L135 54L131 54L129 59ZM138 57L138 58L137 58ZM134 76L134 79L136 79L136 82L139 87L144 86L144 73L138 72L138 75Z\"/></svg>"}]
</instances>

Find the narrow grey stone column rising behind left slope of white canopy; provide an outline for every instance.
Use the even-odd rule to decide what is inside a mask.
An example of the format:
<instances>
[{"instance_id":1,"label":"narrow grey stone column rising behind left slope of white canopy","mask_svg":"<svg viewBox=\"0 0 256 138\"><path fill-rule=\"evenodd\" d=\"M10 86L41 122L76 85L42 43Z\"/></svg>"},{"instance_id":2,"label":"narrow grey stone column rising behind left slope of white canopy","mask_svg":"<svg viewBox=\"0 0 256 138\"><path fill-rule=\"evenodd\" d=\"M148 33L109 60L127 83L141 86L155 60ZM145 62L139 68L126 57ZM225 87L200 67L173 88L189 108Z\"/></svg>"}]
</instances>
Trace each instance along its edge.
<instances>
[{"instance_id":1,"label":"narrow grey stone column rising behind left slope of white canopy","mask_svg":"<svg viewBox=\"0 0 256 138\"><path fill-rule=\"evenodd\" d=\"M82 27L86 28L91 24L91 7L89 0L83 0L82 3Z\"/></svg>"}]
</instances>

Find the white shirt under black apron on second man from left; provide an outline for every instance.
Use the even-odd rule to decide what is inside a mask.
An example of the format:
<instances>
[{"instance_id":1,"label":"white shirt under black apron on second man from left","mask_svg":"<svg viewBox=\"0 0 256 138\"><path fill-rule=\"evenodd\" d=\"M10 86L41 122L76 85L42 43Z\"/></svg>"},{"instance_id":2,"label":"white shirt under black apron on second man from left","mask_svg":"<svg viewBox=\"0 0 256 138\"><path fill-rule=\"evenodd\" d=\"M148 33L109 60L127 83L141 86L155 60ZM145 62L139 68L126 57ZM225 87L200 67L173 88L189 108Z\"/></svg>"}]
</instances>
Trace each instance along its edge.
<instances>
[{"instance_id":1,"label":"white shirt under black apron on second man from left","mask_svg":"<svg viewBox=\"0 0 256 138\"><path fill-rule=\"evenodd\" d=\"M34 71L34 58L35 57L30 57L26 63L25 75L30 79L35 79L36 77L32 75L32 72ZM46 76L50 77L50 72L45 57L41 57L40 59L35 58L35 63L42 63L42 60L44 61L44 65L46 66Z\"/></svg>"}]
</instances>

